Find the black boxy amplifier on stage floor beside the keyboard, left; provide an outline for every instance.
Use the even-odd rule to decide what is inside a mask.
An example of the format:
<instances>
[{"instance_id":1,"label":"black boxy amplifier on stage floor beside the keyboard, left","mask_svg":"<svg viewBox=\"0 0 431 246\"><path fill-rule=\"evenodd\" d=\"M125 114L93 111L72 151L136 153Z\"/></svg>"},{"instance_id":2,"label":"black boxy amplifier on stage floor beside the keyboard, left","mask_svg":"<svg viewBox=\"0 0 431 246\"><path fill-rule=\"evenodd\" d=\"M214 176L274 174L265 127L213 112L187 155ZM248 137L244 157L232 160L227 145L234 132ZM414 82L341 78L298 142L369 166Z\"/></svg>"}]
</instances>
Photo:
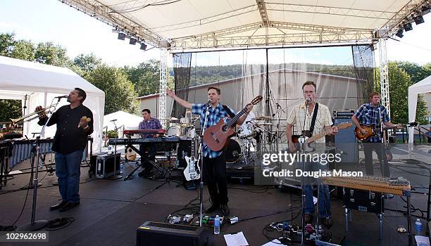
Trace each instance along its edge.
<instances>
[{"instance_id":1,"label":"black boxy amplifier on stage floor beside the keyboard, left","mask_svg":"<svg viewBox=\"0 0 431 246\"><path fill-rule=\"evenodd\" d=\"M96 179L106 179L108 176L118 174L120 159L120 153L98 155L96 157Z\"/></svg>"}]
</instances>

